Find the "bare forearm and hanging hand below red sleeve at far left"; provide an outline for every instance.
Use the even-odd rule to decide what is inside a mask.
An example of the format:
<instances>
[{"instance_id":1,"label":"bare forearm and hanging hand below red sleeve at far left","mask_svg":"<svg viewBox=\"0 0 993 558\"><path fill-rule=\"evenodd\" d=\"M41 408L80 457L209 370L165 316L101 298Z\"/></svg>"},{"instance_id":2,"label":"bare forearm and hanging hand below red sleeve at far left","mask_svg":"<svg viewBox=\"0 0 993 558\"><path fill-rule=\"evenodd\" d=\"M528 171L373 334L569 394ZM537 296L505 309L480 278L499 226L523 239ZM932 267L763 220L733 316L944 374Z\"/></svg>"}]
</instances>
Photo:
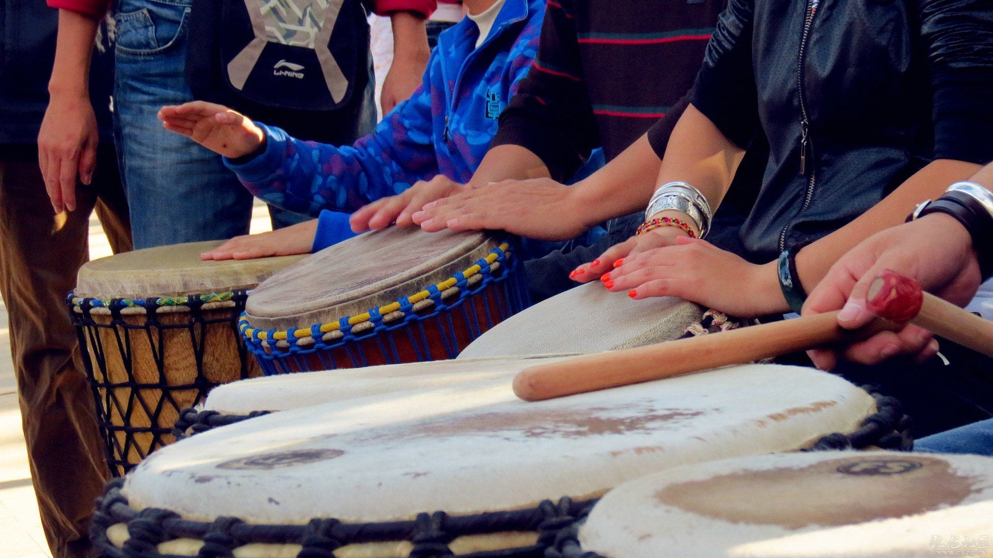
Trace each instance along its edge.
<instances>
[{"instance_id":1,"label":"bare forearm and hanging hand below red sleeve at far left","mask_svg":"<svg viewBox=\"0 0 993 558\"><path fill-rule=\"evenodd\" d=\"M96 165L96 117L89 102L89 62L97 21L59 10L49 106L38 135L38 160L56 212L75 209L75 181L89 184Z\"/></svg>"}]
</instances>

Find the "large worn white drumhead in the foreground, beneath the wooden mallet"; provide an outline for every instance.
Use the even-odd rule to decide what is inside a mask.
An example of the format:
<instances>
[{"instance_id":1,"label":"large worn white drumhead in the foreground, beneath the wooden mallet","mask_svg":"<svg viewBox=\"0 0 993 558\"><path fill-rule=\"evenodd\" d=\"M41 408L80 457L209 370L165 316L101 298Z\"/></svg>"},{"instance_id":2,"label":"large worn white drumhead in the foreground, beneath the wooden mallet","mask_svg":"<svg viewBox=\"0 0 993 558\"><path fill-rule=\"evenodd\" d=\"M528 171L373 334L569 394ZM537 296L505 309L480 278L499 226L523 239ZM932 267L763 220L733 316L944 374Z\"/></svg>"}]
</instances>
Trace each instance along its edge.
<instances>
[{"instance_id":1,"label":"large worn white drumhead in the foreground, beneath the wooden mallet","mask_svg":"<svg viewBox=\"0 0 993 558\"><path fill-rule=\"evenodd\" d=\"M599 496L668 467L802 448L876 411L844 379L751 364L541 402L504 377L274 413L163 448L136 508L213 521L390 521ZM472 370L472 366L467 367ZM333 494L333 497L329 497Z\"/></svg>"}]
</instances>

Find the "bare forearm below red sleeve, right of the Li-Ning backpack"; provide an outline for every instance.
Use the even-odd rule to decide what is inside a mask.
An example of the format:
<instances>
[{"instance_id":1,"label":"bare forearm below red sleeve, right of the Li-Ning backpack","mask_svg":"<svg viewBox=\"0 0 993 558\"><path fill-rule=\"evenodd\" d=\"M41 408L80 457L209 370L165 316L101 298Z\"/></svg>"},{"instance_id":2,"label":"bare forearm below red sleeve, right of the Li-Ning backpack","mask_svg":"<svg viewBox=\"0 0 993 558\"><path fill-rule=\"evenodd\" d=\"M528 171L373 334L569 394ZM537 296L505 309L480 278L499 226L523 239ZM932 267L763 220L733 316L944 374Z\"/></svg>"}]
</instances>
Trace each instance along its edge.
<instances>
[{"instance_id":1,"label":"bare forearm below red sleeve, right of the Li-Ning backpack","mask_svg":"<svg viewBox=\"0 0 993 558\"><path fill-rule=\"evenodd\" d=\"M426 17L425 14L412 11L396 11L389 14L390 25L393 28L393 64L382 82L379 102L383 114L409 98L421 83L421 75L424 74L428 59L431 57L428 36L424 28Z\"/></svg>"}]
</instances>

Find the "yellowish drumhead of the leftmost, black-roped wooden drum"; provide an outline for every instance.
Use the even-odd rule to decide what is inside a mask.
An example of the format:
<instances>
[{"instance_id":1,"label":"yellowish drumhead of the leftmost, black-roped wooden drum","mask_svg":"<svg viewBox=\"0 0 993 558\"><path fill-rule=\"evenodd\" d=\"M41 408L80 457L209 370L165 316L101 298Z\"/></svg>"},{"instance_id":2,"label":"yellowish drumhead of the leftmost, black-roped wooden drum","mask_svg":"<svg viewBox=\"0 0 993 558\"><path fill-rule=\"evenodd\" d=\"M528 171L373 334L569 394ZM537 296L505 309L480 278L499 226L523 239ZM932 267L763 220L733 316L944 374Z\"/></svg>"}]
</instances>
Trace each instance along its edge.
<instances>
[{"instance_id":1,"label":"yellowish drumhead of the leftmost, black-roped wooden drum","mask_svg":"<svg viewBox=\"0 0 993 558\"><path fill-rule=\"evenodd\" d=\"M304 256L203 261L223 240L125 252L86 262L73 294L92 299L177 297L250 289Z\"/></svg>"}]
</instances>

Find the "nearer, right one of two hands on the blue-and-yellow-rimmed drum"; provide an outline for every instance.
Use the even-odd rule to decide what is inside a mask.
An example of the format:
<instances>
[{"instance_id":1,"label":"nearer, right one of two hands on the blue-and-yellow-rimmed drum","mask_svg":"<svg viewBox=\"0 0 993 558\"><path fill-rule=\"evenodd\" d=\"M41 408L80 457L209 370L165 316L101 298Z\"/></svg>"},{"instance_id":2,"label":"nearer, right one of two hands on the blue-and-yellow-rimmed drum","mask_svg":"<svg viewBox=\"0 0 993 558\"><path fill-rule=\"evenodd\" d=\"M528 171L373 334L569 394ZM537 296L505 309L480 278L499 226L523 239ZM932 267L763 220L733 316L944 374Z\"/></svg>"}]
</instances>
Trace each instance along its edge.
<instances>
[{"instance_id":1,"label":"nearer, right one of two hands on the blue-and-yellow-rimmed drum","mask_svg":"<svg viewBox=\"0 0 993 558\"><path fill-rule=\"evenodd\" d=\"M505 180L465 189L424 206L414 222L429 232L506 230L537 240L571 240L592 224L583 220L575 187L549 179Z\"/></svg>"}]
</instances>

